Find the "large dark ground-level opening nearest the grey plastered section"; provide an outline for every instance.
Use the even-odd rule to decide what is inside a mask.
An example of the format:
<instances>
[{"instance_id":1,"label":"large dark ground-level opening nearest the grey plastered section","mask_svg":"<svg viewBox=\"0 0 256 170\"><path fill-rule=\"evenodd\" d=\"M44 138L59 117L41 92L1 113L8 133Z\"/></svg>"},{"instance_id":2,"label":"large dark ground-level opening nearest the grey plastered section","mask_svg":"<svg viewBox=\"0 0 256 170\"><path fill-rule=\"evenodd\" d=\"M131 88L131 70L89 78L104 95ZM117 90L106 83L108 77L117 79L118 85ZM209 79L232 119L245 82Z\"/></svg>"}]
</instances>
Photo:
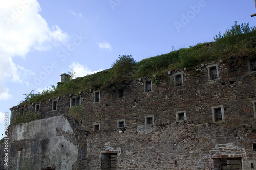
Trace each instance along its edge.
<instances>
[{"instance_id":1,"label":"large dark ground-level opening nearest the grey plastered section","mask_svg":"<svg viewBox=\"0 0 256 170\"><path fill-rule=\"evenodd\" d=\"M117 153L101 155L101 170L117 169Z\"/></svg>"}]
</instances>

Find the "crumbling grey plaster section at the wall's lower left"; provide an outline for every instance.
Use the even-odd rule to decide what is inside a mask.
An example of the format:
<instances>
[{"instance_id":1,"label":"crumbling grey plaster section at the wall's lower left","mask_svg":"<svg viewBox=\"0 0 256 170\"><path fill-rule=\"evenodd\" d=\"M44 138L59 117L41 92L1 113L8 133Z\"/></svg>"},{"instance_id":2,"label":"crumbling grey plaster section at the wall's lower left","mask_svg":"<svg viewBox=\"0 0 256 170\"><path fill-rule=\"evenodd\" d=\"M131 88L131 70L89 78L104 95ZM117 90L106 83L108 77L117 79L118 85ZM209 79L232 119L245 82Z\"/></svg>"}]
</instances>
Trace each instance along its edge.
<instances>
[{"instance_id":1,"label":"crumbling grey plaster section at the wall's lower left","mask_svg":"<svg viewBox=\"0 0 256 170\"><path fill-rule=\"evenodd\" d=\"M63 115L12 125L11 133L10 145L15 149L11 151L13 159L10 160L16 169L50 166L72 169L78 159L77 141L70 123ZM16 147L22 150L17 151Z\"/></svg>"}]
</instances>

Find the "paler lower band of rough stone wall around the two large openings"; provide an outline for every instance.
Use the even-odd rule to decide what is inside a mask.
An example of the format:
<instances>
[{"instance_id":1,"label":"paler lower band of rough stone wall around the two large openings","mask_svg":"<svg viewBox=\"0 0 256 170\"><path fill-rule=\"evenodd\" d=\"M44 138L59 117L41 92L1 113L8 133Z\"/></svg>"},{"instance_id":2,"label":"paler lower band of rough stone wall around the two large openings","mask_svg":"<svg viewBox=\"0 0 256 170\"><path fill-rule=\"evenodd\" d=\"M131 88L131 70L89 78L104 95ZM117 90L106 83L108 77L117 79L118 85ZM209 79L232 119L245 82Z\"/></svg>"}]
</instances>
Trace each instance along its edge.
<instances>
[{"instance_id":1,"label":"paler lower band of rough stone wall around the two large openings","mask_svg":"<svg viewBox=\"0 0 256 170\"><path fill-rule=\"evenodd\" d=\"M117 169L219 169L214 159L241 158L243 169L256 165L250 127L212 123L141 125L102 130L88 136L89 169L100 169L102 152L116 151Z\"/></svg>"}]
</instances>

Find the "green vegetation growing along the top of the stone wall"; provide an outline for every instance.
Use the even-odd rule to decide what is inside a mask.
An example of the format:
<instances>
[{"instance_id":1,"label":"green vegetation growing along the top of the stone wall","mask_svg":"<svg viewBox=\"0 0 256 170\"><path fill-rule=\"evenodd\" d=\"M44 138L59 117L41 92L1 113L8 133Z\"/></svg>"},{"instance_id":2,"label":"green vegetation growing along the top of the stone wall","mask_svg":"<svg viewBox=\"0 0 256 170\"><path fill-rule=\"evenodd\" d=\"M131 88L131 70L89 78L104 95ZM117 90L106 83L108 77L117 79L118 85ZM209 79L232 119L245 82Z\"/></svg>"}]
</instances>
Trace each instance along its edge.
<instances>
[{"instance_id":1,"label":"green vegetation growing along the top of the stone wall","mask_svg":"<svg viewBox=\"0 0 256 170\"><path fill-rule=\"evenodd\" d=\"M221 33L216 35L214 42L197 44L139 62L136 62L131 55L122 55L110 69L76 79L72 79L75 73L69 72L71 77L67 82L58 82L57 87L52 85L52 88L42 93L33 94L31 91L29 94L24 94L25 99L20 105L44 102L58 96L77 94L79 91L88 91L89 89L114 92L141 77L181 70L184 67L193 68L197 64L219 59L222 59L228 66L232 62L239 65L245 63L246 57L255 55L255 37L254 26L249 27L248 23L239 25L235 22L234 26L230 30L226 30L223 35ZM157 76L153 78L153 81L159 85Z\"/></svg>"}]
</instances>

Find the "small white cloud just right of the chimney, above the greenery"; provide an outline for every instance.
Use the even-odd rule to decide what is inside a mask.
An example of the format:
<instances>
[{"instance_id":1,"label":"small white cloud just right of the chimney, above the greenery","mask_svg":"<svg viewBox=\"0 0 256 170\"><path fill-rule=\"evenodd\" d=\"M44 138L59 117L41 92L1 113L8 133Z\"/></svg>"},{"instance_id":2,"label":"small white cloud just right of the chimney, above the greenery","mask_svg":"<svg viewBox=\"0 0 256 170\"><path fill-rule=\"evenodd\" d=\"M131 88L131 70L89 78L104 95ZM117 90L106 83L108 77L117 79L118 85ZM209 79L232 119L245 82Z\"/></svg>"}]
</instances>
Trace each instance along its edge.
<instances>
[{"instance_id":1,"label":"small white cloud just right of the chimney, above the greenery","mask_svg":"<svg viewBox=\"0 0 256 170\"><path fill-rule=\"evenodd\" d=\"M69 65L69 68L71 70L75 71L75 77L83 77L86 75L94 74L95 72L103 71L103 69L99 69L97 71L92 71L90 68L88 68L86 65L81 65L78 62L72 62L71 65Z\"/></svg>"}]
</instances>

